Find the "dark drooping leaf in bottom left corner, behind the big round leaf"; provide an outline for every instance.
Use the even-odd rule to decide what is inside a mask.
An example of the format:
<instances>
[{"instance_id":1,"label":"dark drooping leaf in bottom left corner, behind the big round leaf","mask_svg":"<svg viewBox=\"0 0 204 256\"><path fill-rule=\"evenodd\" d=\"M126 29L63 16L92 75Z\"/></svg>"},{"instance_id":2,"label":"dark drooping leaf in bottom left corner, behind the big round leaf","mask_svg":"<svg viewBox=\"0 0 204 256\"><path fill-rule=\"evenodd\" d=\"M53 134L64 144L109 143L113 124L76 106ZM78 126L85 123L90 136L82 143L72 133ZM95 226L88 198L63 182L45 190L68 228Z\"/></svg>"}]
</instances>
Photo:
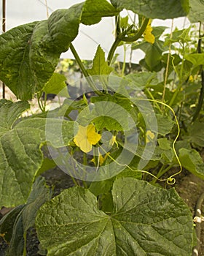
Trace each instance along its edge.
<instances>
[{"instance_id":1,"label":"dark drooping leaf in bottom left corner, behind the big round leaf","mask_svg":"<svg viewBox=\"0 0 204 256\"><path fill-rule=\"evenodd\" d=\"M50 189L45 186L44 178L39 177L34 183L27 203L14 208L1 219L0 232L5 234L4 239L9 243L7 255L23 255L23 251L26 250L28 228L34 226L39 207L50 199Z\"/></svg>"}]
</instances>

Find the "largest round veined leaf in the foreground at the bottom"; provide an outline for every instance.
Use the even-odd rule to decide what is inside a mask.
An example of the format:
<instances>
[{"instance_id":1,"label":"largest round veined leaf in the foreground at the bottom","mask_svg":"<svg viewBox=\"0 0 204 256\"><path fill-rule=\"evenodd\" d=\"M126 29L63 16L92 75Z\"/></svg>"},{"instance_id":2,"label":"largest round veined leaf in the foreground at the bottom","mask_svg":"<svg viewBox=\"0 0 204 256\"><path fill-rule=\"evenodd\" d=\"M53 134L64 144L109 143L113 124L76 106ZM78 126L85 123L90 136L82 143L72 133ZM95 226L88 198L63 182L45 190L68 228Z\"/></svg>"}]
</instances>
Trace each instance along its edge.
<instances>
[{"instance_id":1,"label":"largest round veined leaf in the foreground at the bottom","mask_svg":"<svg viewBox=\"0 0 204 256\"><path fill-rule=\"evenodd\" d=\"M36 230L47 255L192 255L192 214L174 189L119 178L112 195L110 215L80 187L45 203Z\"/></svg>"}]
</instances>

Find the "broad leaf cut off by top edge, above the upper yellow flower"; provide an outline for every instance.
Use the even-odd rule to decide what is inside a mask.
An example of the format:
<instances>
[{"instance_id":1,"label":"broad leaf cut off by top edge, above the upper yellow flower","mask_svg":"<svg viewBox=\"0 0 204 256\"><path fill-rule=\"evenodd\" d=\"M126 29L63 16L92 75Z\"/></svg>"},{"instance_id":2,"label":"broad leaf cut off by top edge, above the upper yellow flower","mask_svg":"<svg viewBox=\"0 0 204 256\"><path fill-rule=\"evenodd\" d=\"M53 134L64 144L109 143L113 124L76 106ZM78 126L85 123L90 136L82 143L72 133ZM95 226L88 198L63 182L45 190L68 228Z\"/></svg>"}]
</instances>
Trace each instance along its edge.
<instances>
[{"instance_id":1,"label":"broad leaf cut off by top edge, above the upper yellow flower","mask_svg":"<svg viewBox=\"0 0 204 256\"><path fill-rule=\"evenodd\" d=\"M177 18L186 16L189 12L188 0L111 0L111 4L119 10L131 10L147 18Z\"/></svg>"}]
</instances>

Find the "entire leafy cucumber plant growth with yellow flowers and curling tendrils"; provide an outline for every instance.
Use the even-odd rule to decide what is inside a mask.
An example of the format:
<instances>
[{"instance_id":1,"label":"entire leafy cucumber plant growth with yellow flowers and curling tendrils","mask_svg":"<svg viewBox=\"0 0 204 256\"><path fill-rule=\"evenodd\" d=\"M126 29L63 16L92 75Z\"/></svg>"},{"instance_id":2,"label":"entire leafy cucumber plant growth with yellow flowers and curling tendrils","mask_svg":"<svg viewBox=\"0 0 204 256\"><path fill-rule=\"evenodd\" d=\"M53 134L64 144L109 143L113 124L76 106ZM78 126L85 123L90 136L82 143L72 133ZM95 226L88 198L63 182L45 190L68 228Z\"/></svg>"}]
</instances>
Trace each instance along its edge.
<instances>
[{"instance_id":1,"label":"entire leafy cucumber plant growth with yellow flowers and curling tendrils","mask_svg":"<svg viewBox=\"0 0 204 256\"><path fill-rule=\"evenodd\" d=\"M0 79L20 99L0 101L0 203L14 207L0 222L8 255L26 255L32 225L42 255L192 255L192 213L174 188L164 187L182 167L204 178L202 26L200 46L192 48L190 28L164 41L165 27L151 22L188 16L202 24L202 7L198 0L86 0L1 34ZM138 23L121 18L123 9ZM98 45L86 69L73 41L81 23L103 17L115 17L115 40L107 59ZM140 72L115 68L120 45L144 51ZM84 75L81 99L69 97L66 78L55 72L68 48ZM49 93L67 99L47 111L43 92L45 99ZM42 113L23 117L34 95ZM41 174L53 163L76 186L52 198Z\"/></svg>"}]
</instances>

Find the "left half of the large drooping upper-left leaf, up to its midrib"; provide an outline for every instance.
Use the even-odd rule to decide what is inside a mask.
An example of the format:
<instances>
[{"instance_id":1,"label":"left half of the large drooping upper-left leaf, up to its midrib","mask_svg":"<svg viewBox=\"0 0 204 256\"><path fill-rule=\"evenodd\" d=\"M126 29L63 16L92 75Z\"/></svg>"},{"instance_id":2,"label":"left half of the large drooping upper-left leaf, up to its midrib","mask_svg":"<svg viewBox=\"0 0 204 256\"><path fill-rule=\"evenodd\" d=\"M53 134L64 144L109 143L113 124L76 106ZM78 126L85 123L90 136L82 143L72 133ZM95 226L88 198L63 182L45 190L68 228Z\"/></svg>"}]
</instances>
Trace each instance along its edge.
<instances>
[{"instance_id":1,"label":"left half of the large drooping upper-left leaf, up to its midrib","mask_svg":"<svg viewBox=\"0 0 204 256\"><path fill-rule=\"evenodd\" d=\"M17 26L0 36L0 78L20 99L30 99L35 91L28 54L37 23Z\"/></svg>"}]
</instances>

